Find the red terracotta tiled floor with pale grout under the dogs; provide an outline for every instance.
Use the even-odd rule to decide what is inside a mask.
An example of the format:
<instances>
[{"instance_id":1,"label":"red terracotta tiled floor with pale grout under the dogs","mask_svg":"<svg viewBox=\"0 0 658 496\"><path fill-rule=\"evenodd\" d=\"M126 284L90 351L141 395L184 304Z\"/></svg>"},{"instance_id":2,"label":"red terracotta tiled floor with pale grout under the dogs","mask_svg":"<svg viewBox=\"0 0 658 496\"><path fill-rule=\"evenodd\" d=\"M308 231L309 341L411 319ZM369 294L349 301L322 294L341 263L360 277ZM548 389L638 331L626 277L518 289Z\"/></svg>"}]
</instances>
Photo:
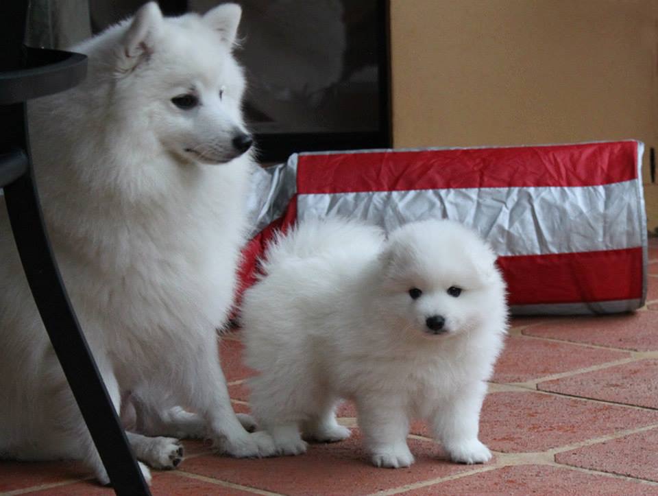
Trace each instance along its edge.
<instances>
[{"instance_id":1,"label":"red terracotta tiled floor with pale grout under the dogs","mask_svg":"<svg viewBox=\"0 0 658 496\"><path fill-rule=\"evenodd\" d=\"M446 460L412 427L409 469L368 464L358 429L303 456L233 460L185 442L179 469L154 471L154 495L556 494L658 495L658 243L649 297L633 315L514 319L491 380L481 438L484 465ZM247 412L239 333L222 344L234 405ZM354 427L354 408L340 410ZM0 495L106 495L77 462L0 462Z\"/></svg>"}]
</instances>

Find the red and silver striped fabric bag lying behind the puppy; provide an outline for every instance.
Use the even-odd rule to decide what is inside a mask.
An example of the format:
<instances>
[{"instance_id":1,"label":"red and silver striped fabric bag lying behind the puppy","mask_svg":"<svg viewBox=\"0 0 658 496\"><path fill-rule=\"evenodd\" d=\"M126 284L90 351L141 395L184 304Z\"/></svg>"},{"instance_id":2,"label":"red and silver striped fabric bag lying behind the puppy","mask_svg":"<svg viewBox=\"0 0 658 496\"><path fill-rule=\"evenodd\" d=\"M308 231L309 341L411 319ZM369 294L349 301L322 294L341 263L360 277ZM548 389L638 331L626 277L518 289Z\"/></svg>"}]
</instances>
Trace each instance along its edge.
<instances>
[{"instance_id":1,"label":"red and silver striped fabric bag lying behind the puppy","mask_svg":"<svg viewBox=\"0 0 658 496\"><path fill-rule=\"evenodd\" d=\"M646 296L642 143L294 154L256 176L243 285L276 229L326 215L387 231L427 217L498 253L513 314L632 311Z\"/></svg>"}]
</instances>

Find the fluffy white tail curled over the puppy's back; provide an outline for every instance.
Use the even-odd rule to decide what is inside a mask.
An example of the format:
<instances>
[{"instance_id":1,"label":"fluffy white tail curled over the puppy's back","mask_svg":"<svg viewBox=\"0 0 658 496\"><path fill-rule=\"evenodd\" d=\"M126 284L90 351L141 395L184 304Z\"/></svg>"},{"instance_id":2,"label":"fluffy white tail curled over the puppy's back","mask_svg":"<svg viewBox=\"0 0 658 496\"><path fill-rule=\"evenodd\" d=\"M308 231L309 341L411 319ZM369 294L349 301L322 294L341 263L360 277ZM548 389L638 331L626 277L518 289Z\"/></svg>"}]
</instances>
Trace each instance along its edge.
<instances>
[{"instance_id":1,"label":"fluffy white tail curled over the puppy's back","mask_svg":"<svg viewBox=\"0 0 658 496\"><path fill-rule=\"evenodd\" d=\"M269 268L290 259L308 259L336 255L352 250L378 252L385 239L378 226L344 217L304 220L289 233L278 233L265 252L261 269Z\"/></svg>"}]
</instances>

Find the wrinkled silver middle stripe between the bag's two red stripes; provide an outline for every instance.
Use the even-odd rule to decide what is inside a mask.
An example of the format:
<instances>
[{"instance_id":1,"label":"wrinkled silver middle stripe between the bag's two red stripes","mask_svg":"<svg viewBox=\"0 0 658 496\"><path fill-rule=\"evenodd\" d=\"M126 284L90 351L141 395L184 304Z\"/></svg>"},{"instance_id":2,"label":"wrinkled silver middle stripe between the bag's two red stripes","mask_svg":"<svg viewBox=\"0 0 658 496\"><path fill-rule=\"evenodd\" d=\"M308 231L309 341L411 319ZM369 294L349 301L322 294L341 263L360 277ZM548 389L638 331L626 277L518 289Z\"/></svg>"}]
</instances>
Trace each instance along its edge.
<instances>
[{"instance_id":1,"label":"wrinkled silver middle stripe between the bag's two red stripes","mask_svg":"<svg viewBox=\"0 0 658 496\"><path fill-rule=\"evenodd\" d=\"M592 187L511 187L300 194L297 219L344 215L387 231L447 217L480 232L498 255L642 246L637 180Z\"/></svg>"}]
</instances>

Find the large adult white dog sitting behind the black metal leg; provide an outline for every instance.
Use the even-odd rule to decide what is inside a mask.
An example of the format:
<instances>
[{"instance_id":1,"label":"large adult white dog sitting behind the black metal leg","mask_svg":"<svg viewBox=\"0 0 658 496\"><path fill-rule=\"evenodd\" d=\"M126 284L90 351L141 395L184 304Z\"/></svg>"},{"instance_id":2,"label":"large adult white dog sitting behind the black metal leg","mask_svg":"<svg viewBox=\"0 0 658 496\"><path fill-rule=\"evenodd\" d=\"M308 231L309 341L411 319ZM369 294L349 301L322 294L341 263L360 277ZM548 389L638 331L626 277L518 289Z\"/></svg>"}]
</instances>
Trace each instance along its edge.
<instances>
[{"instance_id":1,"label":"large adult white dog sitting behind the black metal leg","mask_svg":"<svg viewBox=\"0 0 658 496\"><path fill-rule=\"evenodd\" d=\"M207 435L232 456L273 451L267 434L241 426L217 355L252 167L232 144L246 133L245 80L232 56L240 16L226 4L164 19L148 3L73 47L89 57L83 84L30 108L66 288L114 405L123 397L137 414L141 434L129 438L138 458L157 468L180 462L178 440L143 434ZM172 101L180 95L200 103L184 110ZM0 454L80 458L108 482L40 322L4 202L0 230Z\"/></svg>"}]
</instances>

